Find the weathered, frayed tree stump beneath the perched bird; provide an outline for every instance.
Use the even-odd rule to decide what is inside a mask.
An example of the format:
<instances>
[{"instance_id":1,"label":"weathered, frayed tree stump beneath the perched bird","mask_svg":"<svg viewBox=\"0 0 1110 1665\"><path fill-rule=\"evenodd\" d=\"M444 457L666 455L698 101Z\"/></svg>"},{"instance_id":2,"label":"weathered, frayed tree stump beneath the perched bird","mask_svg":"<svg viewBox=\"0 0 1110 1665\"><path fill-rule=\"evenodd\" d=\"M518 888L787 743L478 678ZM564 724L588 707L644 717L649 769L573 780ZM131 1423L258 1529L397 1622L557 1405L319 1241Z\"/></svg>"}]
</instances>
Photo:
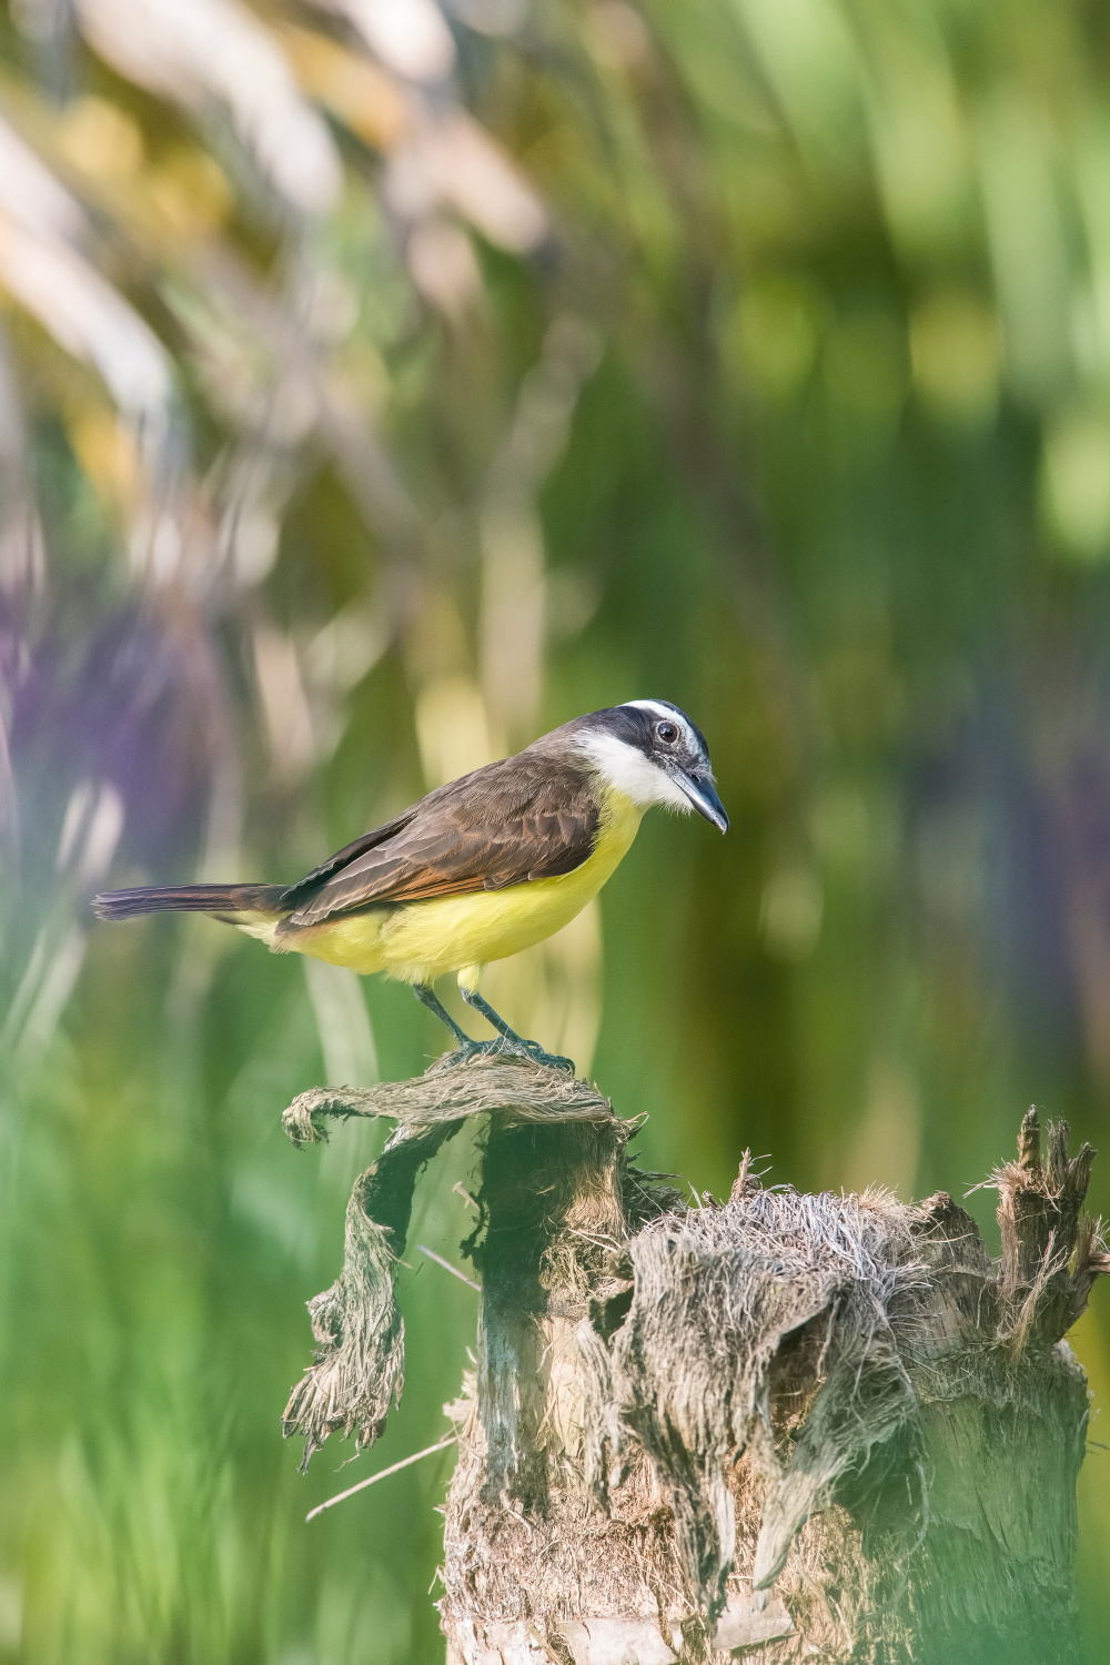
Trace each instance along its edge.
<instances>
[{"instance_id":1,"label":"weathered, frayed tree stump beneath the perched bird","mask_svg":"<svg viewBox=\"0 0 1110 1665\"><path fill-rule=\"evenodd\" d=\"M987 1180L995 1262L945 1192L764 1189L746 1157L727 1202L689 1207L629 1161L639 1122L509 1056L315 1089L285 1126L306 1144L328 1116L398 1127L310 1302L285 1414L306 1460L384 1427L416 1177L488 1119L478 1370L446 1407L449 1665L1078 1660L1087 1384L1063 1335L1110 1259L1067 1124L1042 1159L1030 1111Z\"/></svg>"}]
</instances>

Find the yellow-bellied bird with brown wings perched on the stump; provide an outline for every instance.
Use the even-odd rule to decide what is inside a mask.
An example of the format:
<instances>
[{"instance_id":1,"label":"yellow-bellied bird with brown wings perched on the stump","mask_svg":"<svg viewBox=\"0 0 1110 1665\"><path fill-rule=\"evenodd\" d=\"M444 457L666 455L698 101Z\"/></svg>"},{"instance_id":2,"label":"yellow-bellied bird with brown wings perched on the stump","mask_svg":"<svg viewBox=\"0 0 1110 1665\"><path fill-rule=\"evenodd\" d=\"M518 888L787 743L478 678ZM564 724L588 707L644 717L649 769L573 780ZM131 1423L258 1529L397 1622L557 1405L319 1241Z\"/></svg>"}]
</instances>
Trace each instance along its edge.
<instances>
[{"instance_id":1,"label":"yellow-bellied bird with brown wings perched on the stump","mask_svg":"<svg viewBox=\"0 0 1110 1665\"><path fill-rule=\"evenodd\" d=\"M296 884L145 886L107 891L93 907L100 919L210 914L275 954L384 972L413 987L464 1059L508 1051L572 1071L483 999L479 974L581 912L652 804L729 828L701 729L667 699L631 699L438 786ZM498 1041L474 1041L441 1004L433 986L448 972Z\"/></svg>"}]
</instances>

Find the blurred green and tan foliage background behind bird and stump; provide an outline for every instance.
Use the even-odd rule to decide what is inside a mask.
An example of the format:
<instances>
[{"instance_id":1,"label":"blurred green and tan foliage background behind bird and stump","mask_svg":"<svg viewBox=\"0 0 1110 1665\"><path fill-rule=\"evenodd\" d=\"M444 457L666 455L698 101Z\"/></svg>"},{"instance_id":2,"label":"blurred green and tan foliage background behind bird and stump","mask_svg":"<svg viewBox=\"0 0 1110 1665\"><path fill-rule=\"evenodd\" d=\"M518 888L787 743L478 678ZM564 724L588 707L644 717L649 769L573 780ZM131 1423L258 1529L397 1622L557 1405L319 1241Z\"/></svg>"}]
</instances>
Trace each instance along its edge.
<instances>
[{"instance_id":1,"label":"blurred green and tan foliage background behind bird and stump","mask_svg":"<svg viewBox=\"0 0 1110 1665\"><path fill-rule=\"evenodd\" d=\"M381 1136L278 1119L444 1036L88 901L293 879L642 696L732 831L649 818L486 992L649 1166L959 1195L1028 1102L1107 1142L1110 10L0 5L0 1660L443 1657L449 1455L303 1517L446 1432L476 1297L411 1249L404 1402L301 1479ZM414 1217L454 1264L473 1157ZM1105 1404L1105 1292L1073 1339Z\"/></svg>"}]
</instances>

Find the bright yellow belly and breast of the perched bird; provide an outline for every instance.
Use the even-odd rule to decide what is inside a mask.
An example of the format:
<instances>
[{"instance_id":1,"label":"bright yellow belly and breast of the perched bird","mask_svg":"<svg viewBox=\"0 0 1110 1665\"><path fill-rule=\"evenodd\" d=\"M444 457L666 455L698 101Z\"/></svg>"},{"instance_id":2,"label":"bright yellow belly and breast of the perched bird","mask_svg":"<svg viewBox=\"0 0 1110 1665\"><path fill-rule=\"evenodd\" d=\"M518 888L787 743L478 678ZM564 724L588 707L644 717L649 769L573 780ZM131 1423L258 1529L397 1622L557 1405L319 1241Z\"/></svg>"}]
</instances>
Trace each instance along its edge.
<instances>
[{"instance_id":1,"label":"bright yellow belly and breast of the perched bird","mask_svg":"<svg viewBox=\"0 0 1110 1665\"><path fill-rule=\"evenodd\" d=\"M473 986L479 966L554 936L592 901L627 852L641 816L629 798L612 793L592 854L574 872L346 914L280 946L361 974L383 971L399 982L434 982L463 971L459 981Z\"/></svg>"}]
</instances>

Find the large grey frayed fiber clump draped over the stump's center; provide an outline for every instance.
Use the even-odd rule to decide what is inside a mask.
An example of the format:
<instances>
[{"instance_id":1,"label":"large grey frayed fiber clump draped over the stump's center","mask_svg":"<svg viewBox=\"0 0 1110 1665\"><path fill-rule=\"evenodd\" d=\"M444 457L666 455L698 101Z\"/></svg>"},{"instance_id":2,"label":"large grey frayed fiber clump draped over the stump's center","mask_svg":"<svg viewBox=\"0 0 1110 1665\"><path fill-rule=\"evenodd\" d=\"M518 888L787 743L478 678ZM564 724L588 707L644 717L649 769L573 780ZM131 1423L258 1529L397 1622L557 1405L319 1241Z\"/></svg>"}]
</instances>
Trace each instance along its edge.
<instances>
[{"instance_id":1,"label":"large grey frayed fiber clump draped over the stump's center","mask_svg":"<svg viewBox=\"0 0 1110 1665\"><path fill-rule=\"evenodd\" d=\"M586 1475L604 1497L629 1440L646 1452L711 1620L736 1552L726 1472L744 1452L774 1480L756 1552L761 1590L835 1480L914 1419L902 1350L927 1269L905 1212L882 1194L742 1187L724 1207L666 1215L629 1244L634 1295L604 1389L586 1407ZM794 1380L780 1372L776 1384L779 1432L800 1425L780 1469L772 1369L807 1329Z\"/></svg>"}]
</instances>

